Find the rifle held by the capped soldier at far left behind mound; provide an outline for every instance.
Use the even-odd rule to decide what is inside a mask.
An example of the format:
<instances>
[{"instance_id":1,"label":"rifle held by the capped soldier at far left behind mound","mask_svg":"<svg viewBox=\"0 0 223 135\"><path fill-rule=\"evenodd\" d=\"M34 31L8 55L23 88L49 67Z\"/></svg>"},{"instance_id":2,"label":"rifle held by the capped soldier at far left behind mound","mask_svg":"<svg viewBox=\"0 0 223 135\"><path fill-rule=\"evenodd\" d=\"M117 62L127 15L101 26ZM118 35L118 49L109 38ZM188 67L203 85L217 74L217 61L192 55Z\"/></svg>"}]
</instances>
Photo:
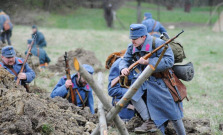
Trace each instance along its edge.
<instances>
[{"instance_id":1,"label":"rifle held by the capped soldier at far left behind mound","mask_svg":"<svg viewBox=\"0 0 223 135\"><path fill-rule=\"evenodd\" d=\"M26 58L25 58L25 60L24 60L24 62L23 62L23 64L22 64L22 68L20 69L19 74L20 74L20 73L23 73L23 71L24 71L24 69L25 69L27 60L28 60L29 56L31 55L31 50L32 50L34 41L36 40L36 37L37 37L37 36L36 36L36 34L35 34L34 37L33 37L33 41L32 41L32 43L31 43L31 45L30 45L30 47L29 47L29 49L28 49L28 51L27 51ZM19 85L19 83L20 83L20 79L17 78L17 80L16 80L16 84ZM29 92L29 85L28 85L28 84L26 84L24 81L21 81L21 85L23 85L23 86L26 88L26 91Z\"/></svg>"}]
</instances>

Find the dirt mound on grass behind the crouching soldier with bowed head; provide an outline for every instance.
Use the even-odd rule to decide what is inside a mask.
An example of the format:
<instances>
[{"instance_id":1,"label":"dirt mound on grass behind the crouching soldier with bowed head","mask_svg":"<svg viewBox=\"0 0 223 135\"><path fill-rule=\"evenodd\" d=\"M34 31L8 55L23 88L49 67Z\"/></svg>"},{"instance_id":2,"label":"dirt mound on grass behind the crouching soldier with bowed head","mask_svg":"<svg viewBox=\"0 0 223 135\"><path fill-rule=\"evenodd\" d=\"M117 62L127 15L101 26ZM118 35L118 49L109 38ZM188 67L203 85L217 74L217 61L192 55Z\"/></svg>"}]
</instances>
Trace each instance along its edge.
<instances>
[{"instance_id":1,"label":"dirt mound on grass behind the crouching soldier with bowed head","mask_svg":"<svg viewBox=\"0 0 223 135\"><path fill-rule=\"evenodd\" d=\"M78 48L75 51L68 52L69 66L71 71L75 71L73 66L73 58L76 57L81 64L89 64L94 67L95 72L102 70L101 62L96 58L95 54L91 51ZM52 72L65 73L64 55L60 56L55 65L49 65L49 69ZM71 72L72 73L72 72Z\"/></svg>"}]
</instances>

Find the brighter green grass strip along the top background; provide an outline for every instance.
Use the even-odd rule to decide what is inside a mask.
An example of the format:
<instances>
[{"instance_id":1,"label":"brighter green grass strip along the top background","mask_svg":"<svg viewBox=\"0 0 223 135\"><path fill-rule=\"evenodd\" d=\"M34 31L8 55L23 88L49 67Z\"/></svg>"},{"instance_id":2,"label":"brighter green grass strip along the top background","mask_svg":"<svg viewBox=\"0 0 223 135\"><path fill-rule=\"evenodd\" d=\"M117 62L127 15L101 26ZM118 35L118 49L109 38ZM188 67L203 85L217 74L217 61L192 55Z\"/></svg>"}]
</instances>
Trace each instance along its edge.
<instances>
[{"instance_id":1,"label":"brighter green grass strip along the top background","mask_svg":"<svg viewBox=\"0 0 223 135\"><path fill-rule=\"evenodd\" d=\"M137 10L136 2L127 2L126 5L116 11L117 17L125 25L125 29L132 23L137 22ZM158 19L157 6L154 4L142 2L142 19L144 12L151 12L154 19ZM190 13L185 13L183 8L174 8L172 11L167 11L166 7L160 6L160 22L162 23L207 23L210 7L192 7ZM220 9L220 11L222 8ZM215 22L218 18L216 13L212 22ZM78 8L71 10L66 14L51 13L45 19L45 22L41 23L45 27L56 27L63 29L91 29L91 30L109 30L106 27L106 23L103 16L103 9L90 9L90 8ZM115 29L121 29L119 21L114 21Z\"/></svg>"}]
</instances>

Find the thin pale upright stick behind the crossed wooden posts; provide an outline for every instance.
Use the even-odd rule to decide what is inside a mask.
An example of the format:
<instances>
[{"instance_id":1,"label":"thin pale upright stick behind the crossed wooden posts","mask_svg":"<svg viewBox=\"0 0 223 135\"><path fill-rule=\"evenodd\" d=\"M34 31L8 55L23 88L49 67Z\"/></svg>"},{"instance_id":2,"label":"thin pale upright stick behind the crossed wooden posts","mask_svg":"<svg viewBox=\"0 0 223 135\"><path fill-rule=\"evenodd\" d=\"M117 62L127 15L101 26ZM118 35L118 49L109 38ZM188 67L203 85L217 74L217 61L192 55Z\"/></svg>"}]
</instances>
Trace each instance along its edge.
<instances>
[{"instance_id":1,"label":"thin pale upright stick behind the crossed wooden posts","mask_svg":"<svg viewBox=\"0 0 223 135\"><path fill-rule=\"evenodd\" d=\"M98 73L98 84L101 86L101 89L103 89L103 74L102 72ZM100 135L107 135L108 129L107 129L107 123L105 118L105 111L103 104L98 99L98 113L99 113L99 125L100 125Z\"/></svg>"}]
</instances>

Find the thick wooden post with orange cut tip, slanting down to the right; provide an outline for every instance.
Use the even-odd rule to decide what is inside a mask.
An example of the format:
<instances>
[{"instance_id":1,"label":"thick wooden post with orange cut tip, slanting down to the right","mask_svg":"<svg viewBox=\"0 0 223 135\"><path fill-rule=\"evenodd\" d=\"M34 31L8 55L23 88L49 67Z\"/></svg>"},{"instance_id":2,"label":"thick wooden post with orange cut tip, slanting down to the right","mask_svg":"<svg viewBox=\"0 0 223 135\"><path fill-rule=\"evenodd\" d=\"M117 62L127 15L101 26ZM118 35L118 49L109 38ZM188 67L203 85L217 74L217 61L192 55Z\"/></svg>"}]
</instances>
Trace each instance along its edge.
<instances>
[{"instance_id":1,"label":"thick wooden post with orange cut tip, slanting down to the right","mask_svg":"<svg viewBox=\"0 0 223 135\"><path fill-rule=\"evenodd\" d=\"M106 110L110 110L112 105L106 98L106 95L103 93L102 89L98 86L97 82L94 81L92 75L90 75L78 62L76 58L74 58L74 68L77 70L80 75L88 82L91 86L97 97L100 99L101 103L105 107ZM129 135L128 130L125 127L124 122L120 119L118 115L114 116L114 123L118 128L118 131L121 135ZM95 128L95 130L91 133L91 135L99 134L99 125Z\"/></svg>"}]
</instances>

